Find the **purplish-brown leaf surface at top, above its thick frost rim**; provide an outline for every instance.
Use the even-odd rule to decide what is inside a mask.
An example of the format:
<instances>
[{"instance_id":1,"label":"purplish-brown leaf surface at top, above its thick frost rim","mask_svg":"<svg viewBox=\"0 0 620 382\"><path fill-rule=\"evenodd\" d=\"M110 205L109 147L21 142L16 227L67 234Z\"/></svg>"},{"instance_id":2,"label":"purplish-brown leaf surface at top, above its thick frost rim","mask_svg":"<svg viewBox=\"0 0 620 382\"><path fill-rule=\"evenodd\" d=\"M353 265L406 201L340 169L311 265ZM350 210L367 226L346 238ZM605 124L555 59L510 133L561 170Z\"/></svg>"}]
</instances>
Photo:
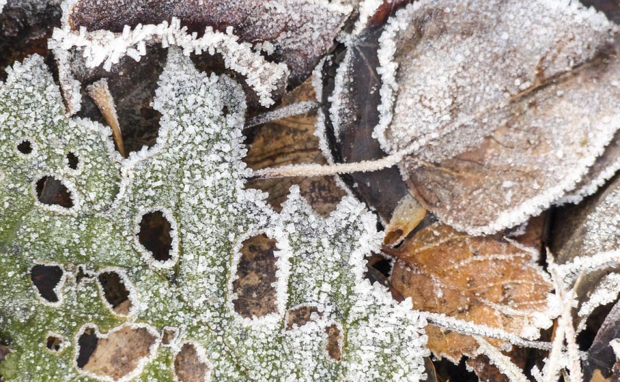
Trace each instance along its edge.
<instances>
[{"instance_id":1,"label":"purplish-brown leaf surface at top, above its thick frost rim","mask_svg":"<svg viewBox=\"0 0 620 382\"><path fill-rule=\"evenodd\" d=\"M79 0L68 23L73 30L122 32L125 25L159 24L176 17L188 32L199 35L205 27L220 32L232 28L240 41L290 67L291 84L297 85L332 46L349 12L339 4L309 0L139 0L130 5L122 0Z\"/></svg>"}]
</instances>

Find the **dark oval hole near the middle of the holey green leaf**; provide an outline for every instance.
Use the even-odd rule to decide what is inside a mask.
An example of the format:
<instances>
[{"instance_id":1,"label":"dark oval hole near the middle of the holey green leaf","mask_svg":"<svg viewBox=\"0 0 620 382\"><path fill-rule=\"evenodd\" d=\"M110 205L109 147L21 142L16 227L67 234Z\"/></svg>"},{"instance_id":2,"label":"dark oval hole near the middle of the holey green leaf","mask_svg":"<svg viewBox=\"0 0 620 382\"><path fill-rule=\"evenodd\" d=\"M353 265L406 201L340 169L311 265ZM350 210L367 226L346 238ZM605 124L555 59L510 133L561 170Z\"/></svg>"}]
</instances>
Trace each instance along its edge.
<instances>
[{"instance_id":1,"label":"dark oval hole near the middle of the holey green leaf","mask_svg":"<svg viewBox=\"0 0 620 382\"><path fill-rule=\"evenodd\" d=\"M146 250L151 251L157 261L167 261L172 258L172 225L163 212L153 211L142 215L138 241Z\"/></svg>"}]
</instances>

